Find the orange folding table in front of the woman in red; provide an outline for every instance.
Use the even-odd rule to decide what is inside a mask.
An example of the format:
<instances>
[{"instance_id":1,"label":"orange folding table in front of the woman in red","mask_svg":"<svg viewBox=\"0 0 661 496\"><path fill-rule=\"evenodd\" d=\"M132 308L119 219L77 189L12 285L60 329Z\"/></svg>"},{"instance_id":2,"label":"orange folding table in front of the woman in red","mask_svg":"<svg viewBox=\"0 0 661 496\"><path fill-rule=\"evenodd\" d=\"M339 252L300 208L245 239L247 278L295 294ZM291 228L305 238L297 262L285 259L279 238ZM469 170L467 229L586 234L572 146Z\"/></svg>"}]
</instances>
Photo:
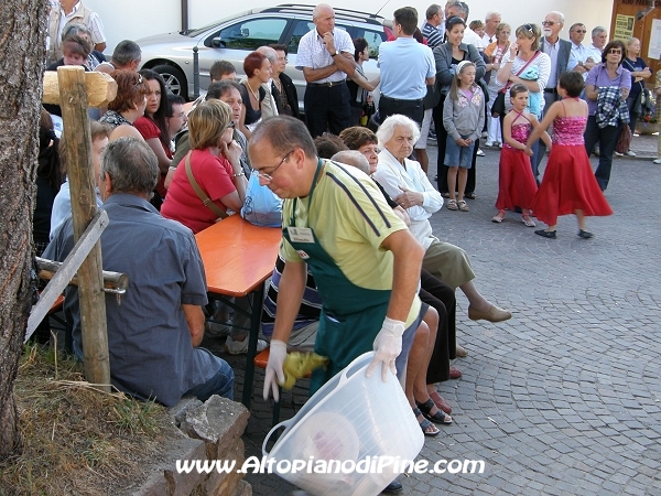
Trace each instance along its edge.
<instances>
[{"instance_id":1,"label":"orange folding table in front of the woman in red","mask_svg":"<svg viewBox=\"0 0 661 496\"><path fill-rule=\"evenodd\" d=\"M232 215L197 233L195 239L206 272L209 299L228 303L235 311L247 313L232 304L232 296L253 295L250 337L246 359L246 378L241 402L250 409L254 355L264 299L264 281L273 273L282 230L259 227Z\"/></svg>"}]
</instances>

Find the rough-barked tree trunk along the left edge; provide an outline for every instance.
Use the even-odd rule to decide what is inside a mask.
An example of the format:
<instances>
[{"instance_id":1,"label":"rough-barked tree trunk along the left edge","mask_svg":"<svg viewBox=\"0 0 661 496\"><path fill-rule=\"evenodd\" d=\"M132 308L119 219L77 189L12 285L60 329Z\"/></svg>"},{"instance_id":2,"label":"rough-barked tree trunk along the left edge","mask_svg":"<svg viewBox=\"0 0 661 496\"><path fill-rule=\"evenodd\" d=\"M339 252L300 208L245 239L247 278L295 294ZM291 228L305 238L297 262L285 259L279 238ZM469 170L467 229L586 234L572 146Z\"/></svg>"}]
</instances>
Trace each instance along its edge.
<instances>
[{"instance_id":1,"label":"rough-barked tree trunk along the left edge","mask_svg":"<svg viewBox=\"0 0 661 496\"><path fill-rule=\"evenodd\" d=\"M0 459L21 441L13 381L32 304L32 212L46 3L4 0L0 9Z\"/></svg>"}]
</instances>

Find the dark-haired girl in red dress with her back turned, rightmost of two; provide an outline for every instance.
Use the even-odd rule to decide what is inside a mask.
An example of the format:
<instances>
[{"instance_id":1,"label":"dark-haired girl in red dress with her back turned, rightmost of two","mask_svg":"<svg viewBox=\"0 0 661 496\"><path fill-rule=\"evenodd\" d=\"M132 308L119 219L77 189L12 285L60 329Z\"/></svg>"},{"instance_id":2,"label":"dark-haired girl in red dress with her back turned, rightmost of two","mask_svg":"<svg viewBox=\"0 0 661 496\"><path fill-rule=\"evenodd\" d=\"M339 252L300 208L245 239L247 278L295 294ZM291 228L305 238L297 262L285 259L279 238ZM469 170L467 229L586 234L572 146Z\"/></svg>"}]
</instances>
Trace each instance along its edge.
<instances>
[{"instance_id":1,"label":"dark-haired girl in red dress with her back turned, rightmost of two","mask_svg":"<svg viewBox=\"0 0 661 496\"><path fill-rule=\"evenodd\" d=\"M555 228L560 215L575 214L578 236L589 239L594 235L586 229L585 217L613 214L593 174L583 142L587 122L587 104L578 98L583 86L581 74L562 74L557 94L563 99L549 108L542 125L528 138L525 152L532 155L531 144L553 123L553 148L532 204L537 218L549 225L546 229L534 231L544 238L557 237Z\"/></svg>"}]
</instances>

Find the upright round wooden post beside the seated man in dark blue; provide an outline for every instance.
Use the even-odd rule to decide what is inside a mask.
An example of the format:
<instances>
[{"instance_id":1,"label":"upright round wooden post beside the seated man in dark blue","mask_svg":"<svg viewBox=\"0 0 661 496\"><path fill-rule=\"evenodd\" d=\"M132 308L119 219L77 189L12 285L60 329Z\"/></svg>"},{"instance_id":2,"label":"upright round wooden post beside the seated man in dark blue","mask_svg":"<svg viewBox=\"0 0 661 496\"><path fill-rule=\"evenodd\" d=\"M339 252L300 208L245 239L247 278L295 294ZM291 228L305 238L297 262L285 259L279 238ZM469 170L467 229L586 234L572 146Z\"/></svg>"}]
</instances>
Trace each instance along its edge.
<instances>
[{"instance_id":1,"label":"upright round wooden post beside the seated man in dark blue","mask_svg":"<svg viewBox=\"0 0 661 496\"><path fill-rule=\"evenodd\" d=\"M57 83L67 147L74 240L78 241L97 213L85 71L79 66L58 67ZM110 391L106 296L99 242L95 245L78 270L78 296L85 377L91 384L102 385L97 386L99 389Z\"/></svg>"}]
</instances>

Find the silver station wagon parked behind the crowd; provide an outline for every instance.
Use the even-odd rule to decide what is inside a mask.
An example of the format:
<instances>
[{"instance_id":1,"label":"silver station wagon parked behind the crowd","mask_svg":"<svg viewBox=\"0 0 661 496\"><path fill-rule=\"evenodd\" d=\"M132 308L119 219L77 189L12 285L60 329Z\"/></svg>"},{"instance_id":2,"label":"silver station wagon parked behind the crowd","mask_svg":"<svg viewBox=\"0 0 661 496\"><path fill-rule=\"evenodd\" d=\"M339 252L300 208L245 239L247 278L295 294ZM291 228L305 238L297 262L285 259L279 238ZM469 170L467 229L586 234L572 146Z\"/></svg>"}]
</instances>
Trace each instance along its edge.
<instances>
[{"instance_id":1,"label":"silver station wagon parked behind the crowd","mask_svg":"<svg viewBox=\"0 0 661 496\"><path fill-rule=\"evenodd\" d=\"M159 34L138 40L142 50L142 68L161 74L167 88L186 99L194 97L193 47L199 60L199 88L210 84L209 68L216 61L231 62L237 75L243 75L243 58L260 46L271 43L288 45L286 74L299 91L303 108L305 78L296 69L296 52L301 37L314 29L311 6L293 3L252 9L199 29L178 33ZM377 14L335 9L336 29L346 30L353 39L365 37L370 47L370 60L364 64L368 79L378 75L379 45L392 34L391 21Z\"/></svg>"}]
</instances>

